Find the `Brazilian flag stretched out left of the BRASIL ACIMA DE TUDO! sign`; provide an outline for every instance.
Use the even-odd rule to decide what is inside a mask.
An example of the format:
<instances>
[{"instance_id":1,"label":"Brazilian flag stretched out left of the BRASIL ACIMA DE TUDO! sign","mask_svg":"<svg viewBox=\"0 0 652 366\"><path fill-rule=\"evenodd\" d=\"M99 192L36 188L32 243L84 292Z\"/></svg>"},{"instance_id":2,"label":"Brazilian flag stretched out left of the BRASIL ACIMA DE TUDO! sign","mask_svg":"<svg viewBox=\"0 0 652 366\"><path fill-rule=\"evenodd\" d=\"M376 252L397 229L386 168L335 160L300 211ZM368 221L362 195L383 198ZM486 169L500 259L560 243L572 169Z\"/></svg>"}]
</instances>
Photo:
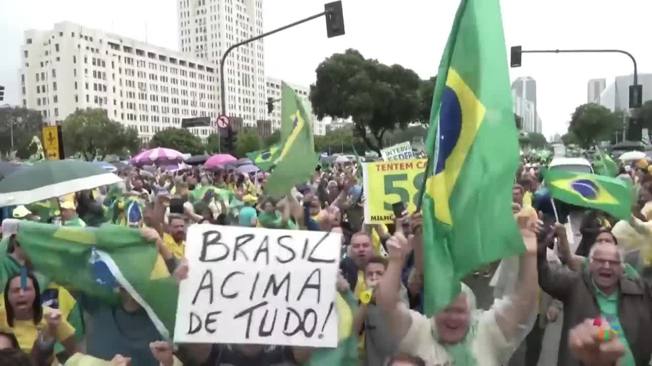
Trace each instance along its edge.
<instances>
[{"instance_id":1,"label":"Brazilian flag stretched out left of the BRASIL ACIMA DE TUDO! sign","mask_svg":"<svg viewBox=\"0 0 652 366\"><path fill-rule=\"evenodd\" d=\"M3 229L5 223L3 221ZM67 289L108 303L125 289L147 311L164 339L171 339L179 287L156 245L138 229L59 227L16 221L17 239L40 273Z\"/></svg>"}]
</instances>

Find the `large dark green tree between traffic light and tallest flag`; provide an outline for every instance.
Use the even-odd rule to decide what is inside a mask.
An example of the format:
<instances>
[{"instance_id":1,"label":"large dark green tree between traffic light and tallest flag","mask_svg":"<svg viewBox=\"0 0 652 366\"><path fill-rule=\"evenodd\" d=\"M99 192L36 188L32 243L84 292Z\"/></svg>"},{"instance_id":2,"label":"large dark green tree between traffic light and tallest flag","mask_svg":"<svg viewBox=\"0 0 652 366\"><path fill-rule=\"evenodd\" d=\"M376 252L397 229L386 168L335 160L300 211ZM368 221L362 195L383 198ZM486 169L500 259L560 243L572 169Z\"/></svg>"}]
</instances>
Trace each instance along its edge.
<instances>
[{"instance_id":1,"label":"large dark green tree between traffic light and tallest flag","mask_svg":"<svg viewBox=\"0 0 652 366\"><path fill-rule=\"evenodd\" d=\"M421 79L413 70L387 66L347 49L319 64L316 74L310 102L317 118L351 117L357 134L378 153L385 132L419 120Z\"/></svg>"}]
</instances>

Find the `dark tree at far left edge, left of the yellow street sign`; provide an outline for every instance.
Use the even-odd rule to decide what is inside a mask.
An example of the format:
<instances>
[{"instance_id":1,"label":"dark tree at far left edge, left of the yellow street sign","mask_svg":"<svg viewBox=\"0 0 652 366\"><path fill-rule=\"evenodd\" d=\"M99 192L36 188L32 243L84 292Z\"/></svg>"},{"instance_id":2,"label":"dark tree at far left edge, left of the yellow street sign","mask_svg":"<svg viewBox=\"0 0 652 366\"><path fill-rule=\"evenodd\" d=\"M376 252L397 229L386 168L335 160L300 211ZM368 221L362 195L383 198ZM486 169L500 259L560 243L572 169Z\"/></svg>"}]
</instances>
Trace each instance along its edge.
<instances>
[{"instance_id":1,"label":"dark tree at far left edge, left of the yellow street sign","mask_svg":"<svg viewBox=\"0 0 652 366\"><path fill-rule=\"evenodd\" d=\"M11 155L11 136L14 135L14 151L18 158L27 159L36 152L28 148L34 136L41 138L43 118L38 111L24 107L0 108L0 153Z\"/></svg>"}]
</instances>

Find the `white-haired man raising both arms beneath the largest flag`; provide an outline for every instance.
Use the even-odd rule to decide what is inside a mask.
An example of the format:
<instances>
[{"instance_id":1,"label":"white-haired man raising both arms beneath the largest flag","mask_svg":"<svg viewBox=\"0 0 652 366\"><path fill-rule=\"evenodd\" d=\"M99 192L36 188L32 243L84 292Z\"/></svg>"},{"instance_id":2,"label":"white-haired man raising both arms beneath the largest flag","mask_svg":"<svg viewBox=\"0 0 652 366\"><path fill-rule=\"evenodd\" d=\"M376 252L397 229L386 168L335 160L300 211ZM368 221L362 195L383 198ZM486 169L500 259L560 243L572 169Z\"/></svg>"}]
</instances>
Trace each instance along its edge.
<instances>
[{"instance_id":1,"label":"white-haired man raising both arms beneath the largest flag","mask_svg":"<svg viewBox=\"0 0 652 366\"><path fill-rule=\"evenodd\" d=\"M398 302L400 278L406 257L413 246L422 245L422 237L408 240L397 232L387 241L389 266L376 294L376 303L399 351L418 356L428 366L479 365L507 363L529 328L525 326L537 304L537 220L519 218L527 252L521 255L514 292L496 300L488 311L475 308L475 296L462 284L462 292L449 305L425 317ZM419 251L415 251L419 253Z\"/></svg>"}]
</instances>

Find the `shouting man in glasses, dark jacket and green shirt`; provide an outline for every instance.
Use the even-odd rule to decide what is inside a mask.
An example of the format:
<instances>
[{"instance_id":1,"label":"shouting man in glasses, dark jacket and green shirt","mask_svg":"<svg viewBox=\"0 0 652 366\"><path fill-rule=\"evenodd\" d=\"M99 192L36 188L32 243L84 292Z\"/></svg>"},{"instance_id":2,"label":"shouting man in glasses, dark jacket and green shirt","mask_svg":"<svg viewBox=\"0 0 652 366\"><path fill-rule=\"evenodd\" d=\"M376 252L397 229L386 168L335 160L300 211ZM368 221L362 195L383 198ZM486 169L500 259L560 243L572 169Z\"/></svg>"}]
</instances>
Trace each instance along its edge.
<instances>
[{"instance_id":1,"label":"shouting man in glasses, dark jacket and green shirt","mask_svg":"<svg viewBox=\"0 0 652 366\"><path fill-rule=\"evenodd\" d=\"M625 346L623 366L648 365L652 355L652 298L642 279L623 275L623 254L613 234L601 232L589 252L589 266L581 272L554 270L544 251L538 255L539 284L564 304L558 363L578 366L569 350L569 330L586 318L602 318L619 333Z\"/></svg>"}]
</instances>

